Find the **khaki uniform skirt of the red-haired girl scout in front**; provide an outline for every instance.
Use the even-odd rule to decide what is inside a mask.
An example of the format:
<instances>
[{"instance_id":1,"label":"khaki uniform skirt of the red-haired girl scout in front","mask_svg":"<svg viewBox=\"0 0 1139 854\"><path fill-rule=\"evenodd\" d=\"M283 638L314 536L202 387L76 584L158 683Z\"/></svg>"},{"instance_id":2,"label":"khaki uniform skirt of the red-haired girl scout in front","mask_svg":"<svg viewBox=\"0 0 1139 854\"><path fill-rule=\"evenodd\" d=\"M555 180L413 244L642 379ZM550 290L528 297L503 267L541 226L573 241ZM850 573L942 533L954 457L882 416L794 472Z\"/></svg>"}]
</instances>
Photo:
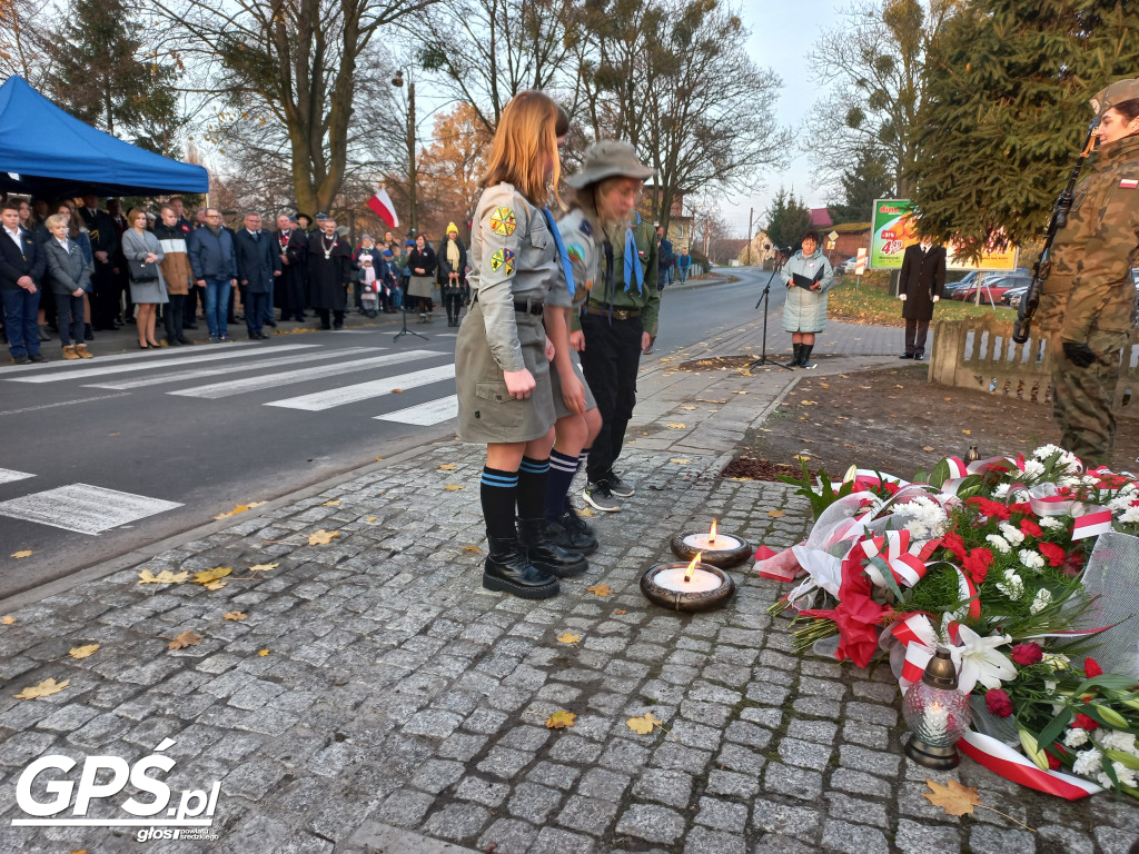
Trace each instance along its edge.
<instances>
[{"instance_id":1,"label":"khaki uniform skirt of the red-haired girl scout in front","mask_svg":"<svg viewBox=\"0 0 1139 854\"><path fill-rule=\"evenodd\" d=\"M409 291L410 293L410 291ZM454 343L454 386L459 396L459 438L478 444L530 442L550 432L557 417L546 359L546 328L533 314L515 314L526 369L538 387L525 400L506 389L502 369L486 343L486 325L478 303L470 306Z\"/></svg>"}]
</instances>

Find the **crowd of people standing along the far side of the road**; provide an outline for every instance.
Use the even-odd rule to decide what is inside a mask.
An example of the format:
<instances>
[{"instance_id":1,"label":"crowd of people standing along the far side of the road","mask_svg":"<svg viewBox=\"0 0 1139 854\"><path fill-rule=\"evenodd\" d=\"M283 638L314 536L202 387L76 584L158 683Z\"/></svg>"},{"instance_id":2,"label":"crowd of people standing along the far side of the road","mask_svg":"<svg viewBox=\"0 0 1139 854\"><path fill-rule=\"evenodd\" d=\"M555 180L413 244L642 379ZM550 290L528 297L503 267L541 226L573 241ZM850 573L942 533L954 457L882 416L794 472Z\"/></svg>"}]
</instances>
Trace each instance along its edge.
<instances>
[{"instance_id":1,"label":"crowd of people standing along the far side of the road","mask_svg":"<svg viewBox=\"0 0 1139 854\"><path fill-rule=\"evenodd\" d=\"M405 306L427 323L436 288L448 325L457 327L470 302L467 248L453 222L436 251L424 235L402 239L391 231L383 240L366 233L353 246L322 213L282 213L276 229L259 213L229 227L212 207L190 219L177 196L157 214L136 207L124 215L118 199L100 207L93 195L80 205L69 198L3 198L2 205L0 343L15 364L46 361L40 345L52 334L64 359L90 359L96 332L126 325L147 350L190 344L186 332L199 320L210 342L229 340L230 325L240 320L251 339L268 338L278 311L294 321L311 312L320 328L341 329L350 310L375 317Z\"/></svg>"}]
</instances>

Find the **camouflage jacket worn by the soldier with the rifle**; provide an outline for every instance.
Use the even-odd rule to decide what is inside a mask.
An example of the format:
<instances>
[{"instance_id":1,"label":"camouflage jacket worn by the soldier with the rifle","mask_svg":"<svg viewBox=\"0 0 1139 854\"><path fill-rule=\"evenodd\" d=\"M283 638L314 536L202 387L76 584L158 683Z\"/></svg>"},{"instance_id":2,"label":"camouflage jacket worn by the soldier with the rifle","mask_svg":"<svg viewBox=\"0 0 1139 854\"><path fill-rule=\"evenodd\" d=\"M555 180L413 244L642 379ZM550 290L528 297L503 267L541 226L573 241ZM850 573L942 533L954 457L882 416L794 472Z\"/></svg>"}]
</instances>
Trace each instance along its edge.
<instances>
[{"instance_id":1,"label":"camouflage jacket worn by the soldier with the rifle","mask_svg":"<svg viewBox=\"0 0 1139 854\"><path fill-rule=\"evenodd\" d=\"M1139 136L1105 143L1056 233L1040 328L1063 340L1131 329L1139 263Z\"/></svg>"}]
</instances>

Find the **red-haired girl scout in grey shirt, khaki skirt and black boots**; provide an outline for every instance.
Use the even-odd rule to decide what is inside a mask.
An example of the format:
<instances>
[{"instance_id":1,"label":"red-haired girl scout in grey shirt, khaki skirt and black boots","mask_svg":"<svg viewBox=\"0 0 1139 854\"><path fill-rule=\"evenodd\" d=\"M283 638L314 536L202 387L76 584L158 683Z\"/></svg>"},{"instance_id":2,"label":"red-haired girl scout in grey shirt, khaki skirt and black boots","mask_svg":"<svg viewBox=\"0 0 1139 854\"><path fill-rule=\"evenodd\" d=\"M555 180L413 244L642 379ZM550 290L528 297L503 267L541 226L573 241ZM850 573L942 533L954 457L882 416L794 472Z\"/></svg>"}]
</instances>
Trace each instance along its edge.
<instances>
[{"instance_id":1,"label":"red-haired girl scout in grey shirt, khaki skirt and black boots","mask_svg":"<svg viewBox=\"0 0 1139 854\"><path fill-rule=\"evenodd\" d=\"M459 438L486 445L483 586L526 599L556 596L555 576L588 568L580 552L549 542L544 526L556 412L542 315L564 273L556 225L541 205L560 176L564 115L536 91L519 92L502 110L475 208L472 305L454 353Z\"/></svg>"}]
</instances>

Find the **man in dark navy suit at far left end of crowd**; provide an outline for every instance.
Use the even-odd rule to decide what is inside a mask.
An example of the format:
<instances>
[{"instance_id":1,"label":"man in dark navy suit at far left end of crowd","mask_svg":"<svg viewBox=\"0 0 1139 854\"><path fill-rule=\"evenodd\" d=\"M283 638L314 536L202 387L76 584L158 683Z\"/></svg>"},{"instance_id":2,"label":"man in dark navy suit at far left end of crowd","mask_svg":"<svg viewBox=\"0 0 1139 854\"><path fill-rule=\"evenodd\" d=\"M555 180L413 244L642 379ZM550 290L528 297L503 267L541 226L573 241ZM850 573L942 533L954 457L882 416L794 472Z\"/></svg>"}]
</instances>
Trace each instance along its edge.
<instances>
[{"instance_id":1,"label":"man in dark navy suit at far left end of crowd","mask_svg":"<svg viewBox=\"0 0 1139 854\"><path fill-rule=\"evenodd\" d=\"M6 202L0 210L0 299L11 361L16 364L48 361L40 355L35 313L40 307L40 279L47 265L40 246L19 228L19 204Z\"/></svg>"}]
</instances>

